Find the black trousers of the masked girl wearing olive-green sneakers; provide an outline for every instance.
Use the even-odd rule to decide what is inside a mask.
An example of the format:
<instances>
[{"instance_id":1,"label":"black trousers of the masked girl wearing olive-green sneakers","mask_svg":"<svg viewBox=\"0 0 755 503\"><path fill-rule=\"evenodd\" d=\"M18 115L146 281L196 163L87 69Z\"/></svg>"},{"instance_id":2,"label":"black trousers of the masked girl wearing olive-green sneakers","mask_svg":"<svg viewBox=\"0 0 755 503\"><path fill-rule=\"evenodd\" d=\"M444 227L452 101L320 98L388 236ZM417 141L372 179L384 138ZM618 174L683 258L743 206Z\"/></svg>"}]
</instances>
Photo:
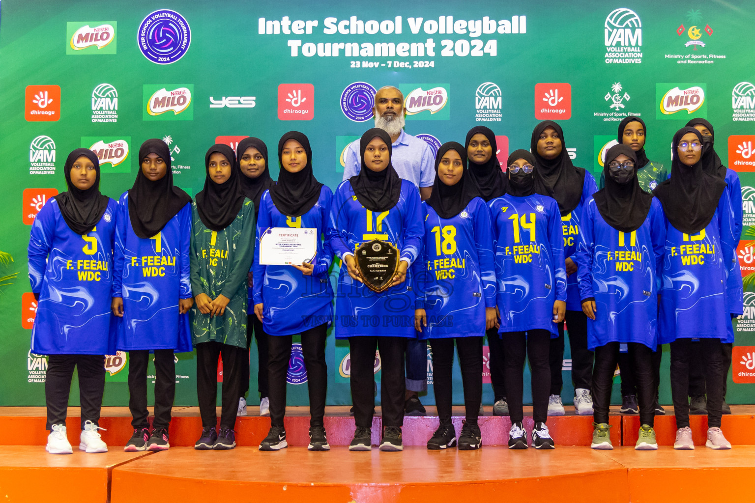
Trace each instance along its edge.
<instances>
[{"instance_id":1,"label":"black trousers of the masked girl wearing olive-green sneakers","mask_svg":"<svg viewBox=\"0 0 755 503\"><path fill-rule=\"evenodd\" d=\"M652 356L654 351L639 342L627 345L627 354L631 358L634 377L637 384L639 403L639 422L653 426L655 419L655 379L653 379ZM609 422L609 406L613 376L618 363L619 343L609 342L595 348L595 368L593 369L593 413L597 423Z\"/></svg>"}]
</instances>

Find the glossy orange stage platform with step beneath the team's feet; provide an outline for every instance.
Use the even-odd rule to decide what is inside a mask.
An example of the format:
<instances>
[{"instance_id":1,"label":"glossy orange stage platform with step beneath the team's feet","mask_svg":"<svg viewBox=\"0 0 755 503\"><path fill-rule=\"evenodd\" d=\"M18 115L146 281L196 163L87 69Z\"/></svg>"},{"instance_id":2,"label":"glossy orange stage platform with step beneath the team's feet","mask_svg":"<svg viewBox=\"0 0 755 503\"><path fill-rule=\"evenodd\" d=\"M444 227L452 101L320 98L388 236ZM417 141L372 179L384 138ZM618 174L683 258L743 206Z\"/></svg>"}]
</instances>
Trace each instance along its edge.
<instances>
[{"instance_id":1,"label":"glossy orange stage platform with step beneath the team's feet","mask_svg":"<svg viewBox=\"0 0 755 503\"><path fill-rule=\"evenodd\" d=\"M249 501L373 503L475 501L495 495L511 501L553 501L554 495L571 498L568 495L578 491L580 499L601 502L676 501L675 494L685 502L753 501L748 481L755 476L755 445L735 445L731 451L704 446L674 451L669 446L673 415L656 417L661 449L655 452L632 448L638 418L618 414L611 416L613 451L587 447L591 416L549 418L556 439L553 451L510 451L500 445L506 441L509 419L493 416L480 420L485 445L481 450L427 451L424 443L437 425L437 418L428 416L406 418L404 452L349 452L345 445L353 433L353 418L346 407L328 407L326 427L333 448L308 452L307 409L289 412L291 447L282 452L254 447L270 425L270 419L258 416L239 418L241 446L233 451L195 451L189 445L201 429L198 411L176 407L168 452L127 453L121 446L131 434L128 409L106 407L101 424L109 428L103 440L110 452L85 454L76 449L79 418L73 414L78 409L71 408L69 440L75 452L50 455L44 450L44 408L0 407L0 425L12 432L0 449L0 495L4 501L32 501L54 491L56 503L143 501L157 494L163 501L181 503L246 501L247 496ZM755 444L755 406L733 406L732 412L724 416L726 436L734 444ZM257 411L250 407L249 413ZM434 413L433 408L428 413ZM375 416L375 437L380 421ZM461 418L455 422L461 423ZM528 423L532 428L531 416L525 418ZM695 443L704 443L706 418L693 416L692 423Z\"/></svg>"}]
</instances>

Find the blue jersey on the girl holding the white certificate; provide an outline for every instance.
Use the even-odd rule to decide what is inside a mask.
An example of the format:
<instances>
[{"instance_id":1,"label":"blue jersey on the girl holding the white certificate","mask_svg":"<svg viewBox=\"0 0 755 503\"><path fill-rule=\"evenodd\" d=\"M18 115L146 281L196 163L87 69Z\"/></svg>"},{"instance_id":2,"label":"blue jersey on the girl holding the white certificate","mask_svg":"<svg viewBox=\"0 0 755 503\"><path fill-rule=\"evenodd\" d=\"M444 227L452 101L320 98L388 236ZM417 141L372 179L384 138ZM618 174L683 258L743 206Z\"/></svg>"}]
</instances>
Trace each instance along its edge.
<instances>
[{"instance_id":1,"label":"blue jersey on the girl holding the white certificate","mask_svg":"<svg viewBox=\"0 0 755 503\"><path fill-rule=\"evenodd\" d=\"M329 323L333 317L333 289L328 268L333 260L330 243L322 241L328 224L333 192L322 186L320 197L302 216L285 216L270 192L260 200L257 218L257 246L254 247L254 304L262 303L262 326L271 336L288 336ZM317 229L317 253L314 271L304 276L291 265L260 265L260 235L268 228L297 227Z\"/></svg>"}]
</instances>

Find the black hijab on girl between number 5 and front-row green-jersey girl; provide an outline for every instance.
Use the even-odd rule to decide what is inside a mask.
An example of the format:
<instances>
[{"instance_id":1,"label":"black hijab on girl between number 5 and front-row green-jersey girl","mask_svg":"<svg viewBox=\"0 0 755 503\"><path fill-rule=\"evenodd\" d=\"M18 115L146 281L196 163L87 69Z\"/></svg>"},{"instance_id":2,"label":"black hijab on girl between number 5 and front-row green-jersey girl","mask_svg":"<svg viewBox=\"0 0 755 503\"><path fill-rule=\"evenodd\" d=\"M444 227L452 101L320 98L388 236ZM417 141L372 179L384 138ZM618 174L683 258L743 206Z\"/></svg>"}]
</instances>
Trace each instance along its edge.
<instances>
[{"instance_id":1,"label":"black hijab on girl between number 5 and front-row green-jersey girl","mask_svg":"<svg viewBox=\"0 0 755 503\"><path fill-rule=\"evenodd\" d=\"M147 179L141 169L142 159L149 154L157 154L165 161L165 176L156 182ZM142 239L152 238L190 202L190 196L173 185L171 151L165 142L153 138L142 143L137 179L128 191L128 217L134 234Z\"/></svg>"}]
</instances>

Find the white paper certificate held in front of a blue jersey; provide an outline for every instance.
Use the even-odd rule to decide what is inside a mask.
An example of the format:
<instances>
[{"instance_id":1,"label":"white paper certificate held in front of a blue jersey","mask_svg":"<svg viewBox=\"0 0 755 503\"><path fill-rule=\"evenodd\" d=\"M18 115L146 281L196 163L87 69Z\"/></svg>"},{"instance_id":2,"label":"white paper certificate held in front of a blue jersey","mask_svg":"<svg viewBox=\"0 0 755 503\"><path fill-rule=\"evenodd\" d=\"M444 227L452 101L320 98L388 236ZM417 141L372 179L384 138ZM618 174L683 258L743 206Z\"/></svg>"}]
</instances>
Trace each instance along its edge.
<instances>
[{"instance_id":1,"label":"white paper certificate held in front of a blue jersey","mask_svg":"<svg viewBox=\"0 0 755 503\"><path fill-rule=\"evenodd\" d=\"M317 253L317 229L272 227L260 235L261 265L301 265Z\"/></svg>"}]
</instances>

